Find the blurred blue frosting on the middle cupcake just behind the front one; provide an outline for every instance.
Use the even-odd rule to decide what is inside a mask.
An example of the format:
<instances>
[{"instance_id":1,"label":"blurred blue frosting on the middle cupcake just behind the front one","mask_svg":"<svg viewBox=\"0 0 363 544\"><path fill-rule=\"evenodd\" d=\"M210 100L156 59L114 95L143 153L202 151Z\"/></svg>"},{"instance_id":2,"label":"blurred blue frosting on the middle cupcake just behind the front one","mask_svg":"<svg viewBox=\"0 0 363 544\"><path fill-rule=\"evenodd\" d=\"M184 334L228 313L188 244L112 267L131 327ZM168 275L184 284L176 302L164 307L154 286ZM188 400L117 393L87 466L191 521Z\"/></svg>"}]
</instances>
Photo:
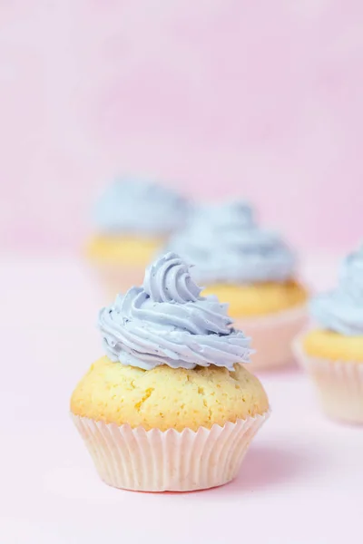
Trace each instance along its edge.
<instances>
[{"instance_id":1,"label":"blurred blue frosting on the middle cupcake just behind the front one","mask_svg":"<svg viewBox=\"0 0 363 544\"><path fill-rule=\"evenodd\" d=\"M283 282L295 272L289 247L256 224L244 201L199 209L167 249L194 263L195 277L204 285Z\"/></svg>"}]
</instances>

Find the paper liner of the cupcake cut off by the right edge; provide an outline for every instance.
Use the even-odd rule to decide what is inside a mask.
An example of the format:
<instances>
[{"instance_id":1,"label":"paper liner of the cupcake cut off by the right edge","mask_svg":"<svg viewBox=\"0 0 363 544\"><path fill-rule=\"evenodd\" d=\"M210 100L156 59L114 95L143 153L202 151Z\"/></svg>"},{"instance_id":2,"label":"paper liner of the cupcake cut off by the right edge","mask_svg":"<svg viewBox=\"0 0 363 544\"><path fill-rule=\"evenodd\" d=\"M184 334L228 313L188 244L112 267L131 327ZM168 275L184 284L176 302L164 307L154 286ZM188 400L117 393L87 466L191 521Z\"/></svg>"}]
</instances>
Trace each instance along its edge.
<instances>
[{"instance_id":1,"label":"paper liner of the cupcake cut off by the right edge","mask_svg":"<svg viewBox=\"0 0 363 544\"><path fill-rule=\"evenodd\" d=\"M363 363L330 361L306 355L302 336L293 343L299 364L313 380L324 413L348 423L363 423Z\"/></svg>"}]
</instances>

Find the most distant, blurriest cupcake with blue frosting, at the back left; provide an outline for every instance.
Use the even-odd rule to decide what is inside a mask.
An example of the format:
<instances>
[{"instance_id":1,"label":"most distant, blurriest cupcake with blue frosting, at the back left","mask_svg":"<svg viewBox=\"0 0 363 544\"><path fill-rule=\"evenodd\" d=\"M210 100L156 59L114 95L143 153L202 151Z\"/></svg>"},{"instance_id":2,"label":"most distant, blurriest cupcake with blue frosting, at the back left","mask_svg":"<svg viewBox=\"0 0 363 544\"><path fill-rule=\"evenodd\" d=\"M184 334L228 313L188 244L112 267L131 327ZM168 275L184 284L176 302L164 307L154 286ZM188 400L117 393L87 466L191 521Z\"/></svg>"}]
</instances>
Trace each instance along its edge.
<instances>
[{"instance_id":1,"label":"most distant, blurriest cupcake with blue frosting, at the back left","mask_svg":"<svg viewBox=\"0 0 363 544\"><path fill-rule=\"evenodd\" d=\"M152 181L122 178L106 189L94 209L97 234L87 257L108 293L142 282L145 266L188 210L186 199Z\"/></svg>"}]
</instances>

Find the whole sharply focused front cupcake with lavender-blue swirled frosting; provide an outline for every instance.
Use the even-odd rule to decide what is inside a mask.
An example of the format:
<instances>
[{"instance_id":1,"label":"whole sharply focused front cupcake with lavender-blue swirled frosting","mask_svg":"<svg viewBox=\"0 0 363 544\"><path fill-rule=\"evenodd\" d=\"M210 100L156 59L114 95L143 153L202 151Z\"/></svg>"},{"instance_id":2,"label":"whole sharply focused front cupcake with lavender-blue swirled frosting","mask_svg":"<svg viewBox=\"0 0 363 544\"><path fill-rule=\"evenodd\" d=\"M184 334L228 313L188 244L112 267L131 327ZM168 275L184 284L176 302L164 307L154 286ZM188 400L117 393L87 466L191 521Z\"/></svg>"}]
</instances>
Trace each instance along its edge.
<instances>
[{"instance_id":1,"label":"whole sharply focused front cupcake with lavender-blue swirled frosting","mask_svg":"<svg viewBox=\"0 0 363 544\"><path fill-rule=\"evenodd\" d=\"M106 483L193 491L231 481L269 413L250 339L169 253L99 316L105 355L72 395L74 423Z\"/></svg>"}]
</instances>

